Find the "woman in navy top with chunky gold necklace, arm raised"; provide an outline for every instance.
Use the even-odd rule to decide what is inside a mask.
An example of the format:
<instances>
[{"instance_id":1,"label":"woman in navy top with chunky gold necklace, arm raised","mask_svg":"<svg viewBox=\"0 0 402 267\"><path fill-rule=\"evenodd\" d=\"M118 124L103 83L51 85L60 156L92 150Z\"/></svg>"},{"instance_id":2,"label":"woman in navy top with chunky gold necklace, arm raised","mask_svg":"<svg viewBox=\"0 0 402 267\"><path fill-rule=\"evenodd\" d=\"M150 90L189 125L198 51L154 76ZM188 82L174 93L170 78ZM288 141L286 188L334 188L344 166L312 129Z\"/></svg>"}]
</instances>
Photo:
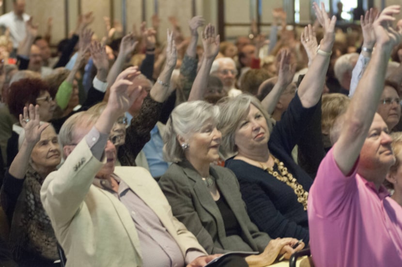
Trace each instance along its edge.
<instances>
[{"instance_id":1,"label":"woman in navy top with chunky gold necklace, arm raised","mask_svg":"<svg viewBox=\"0 0 402 267\"><path fill-rule=\"evenodd\" d=\"M260 101L250 95L228 98L220 104L219 128L226 161L240 183L248 215L257 227L273 238L291 236L309 242L307 197L312 179L291 155L324 88L330 51L334 42L334 19L315 8L324 27L324 38L308 72L281 120L272 129ZM311 26L305 40L315 38ZM321 131L319 132L319 134Z\"/></svg>"}]
</instances>

